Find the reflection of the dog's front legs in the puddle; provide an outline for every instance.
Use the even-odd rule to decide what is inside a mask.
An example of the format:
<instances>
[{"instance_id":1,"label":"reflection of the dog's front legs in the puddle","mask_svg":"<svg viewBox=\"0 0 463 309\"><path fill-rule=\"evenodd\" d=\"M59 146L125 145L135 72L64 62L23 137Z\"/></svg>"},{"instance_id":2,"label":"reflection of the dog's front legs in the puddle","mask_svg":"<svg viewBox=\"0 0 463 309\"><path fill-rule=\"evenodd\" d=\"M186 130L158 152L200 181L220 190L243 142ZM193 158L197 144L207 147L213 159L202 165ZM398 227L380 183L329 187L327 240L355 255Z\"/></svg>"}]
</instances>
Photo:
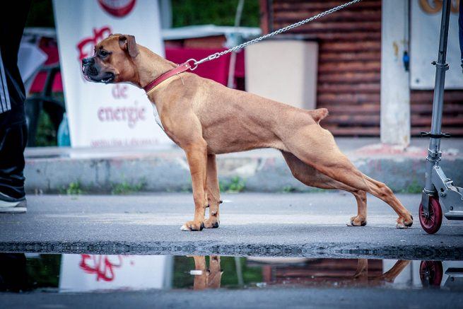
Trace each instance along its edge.
<instances>
[{"instance_id":1,"label":"reflection of the dog's front legs in the puddle","mask_svg":"<svg viewBox=\"0 0 463 309\"><path fill-rule=\"evenodd\" d=\"M194 258L194 290L220 288L222 279L221 257L209 256L209 268L206 268L206 257L196 255Z\"/></svg>"}]
</instances>

